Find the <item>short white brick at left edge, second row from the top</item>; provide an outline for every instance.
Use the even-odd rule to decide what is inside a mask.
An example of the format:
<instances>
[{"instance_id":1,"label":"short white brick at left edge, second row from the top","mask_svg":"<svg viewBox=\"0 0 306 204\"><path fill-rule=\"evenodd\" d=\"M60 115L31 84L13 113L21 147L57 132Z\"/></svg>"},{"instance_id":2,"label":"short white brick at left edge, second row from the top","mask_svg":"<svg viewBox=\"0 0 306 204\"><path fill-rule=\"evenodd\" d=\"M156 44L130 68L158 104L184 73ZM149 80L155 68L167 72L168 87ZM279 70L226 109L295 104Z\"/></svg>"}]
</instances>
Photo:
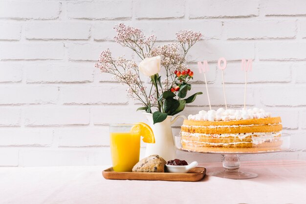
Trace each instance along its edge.
<instances>
[{"instance_id":1,"label":"short white brick at left edge, second row from the top","mask_svg":"<svg viewBox=\"0 0 306 204\"><path fill-rule=\"evenodd\" d=\"M0 23L0 40L20 40L21 24Z\"/></svg>"}]
</instances>

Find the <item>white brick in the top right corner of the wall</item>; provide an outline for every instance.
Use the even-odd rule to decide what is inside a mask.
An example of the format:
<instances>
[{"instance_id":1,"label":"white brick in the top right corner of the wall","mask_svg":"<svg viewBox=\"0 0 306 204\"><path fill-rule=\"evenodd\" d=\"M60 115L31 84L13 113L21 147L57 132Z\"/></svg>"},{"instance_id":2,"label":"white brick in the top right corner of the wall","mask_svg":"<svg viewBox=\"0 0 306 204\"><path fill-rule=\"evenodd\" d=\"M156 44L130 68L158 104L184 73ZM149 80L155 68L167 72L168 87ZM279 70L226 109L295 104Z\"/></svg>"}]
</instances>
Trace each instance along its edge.
<instances>
[{"instance_id":1,"label":"white brick in the top right corner of the wall","mask_svg":"<svg viewBox=\"0 0 306 204\"><path fill-rule=\"evenodd\" d=\"M304 16L306 15L304 0L265 0L262 13L265 16Z\"/></svg>"}]
</instances>

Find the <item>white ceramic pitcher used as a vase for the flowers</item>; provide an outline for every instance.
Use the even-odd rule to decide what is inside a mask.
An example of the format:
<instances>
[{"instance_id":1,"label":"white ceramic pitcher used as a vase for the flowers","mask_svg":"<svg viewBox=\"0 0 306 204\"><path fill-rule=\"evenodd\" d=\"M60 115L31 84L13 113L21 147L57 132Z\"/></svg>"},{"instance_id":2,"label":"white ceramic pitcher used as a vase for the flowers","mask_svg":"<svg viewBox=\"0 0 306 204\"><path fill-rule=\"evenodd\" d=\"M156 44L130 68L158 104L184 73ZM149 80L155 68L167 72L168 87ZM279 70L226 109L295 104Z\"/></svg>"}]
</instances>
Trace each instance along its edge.
<instances>
[{"instance_id":1,"label":"white ceramic pitcher used as a vase for the flowers","mask_svg":"<svg viewBox=\"0 0 306 204\"><path fill-rule=\"evenodd\" d=\"M149 120L150 127L153 130L155 143L147 143L146 148L146 157L150 155L159 155L166 161L175 159L176 150L173 139L173 133L171 129L171 125L175 123L175 121L182 117L187 119L184 115L176 115L171 116L168 115L167 118L159 123L155 123L153 125L153 117L151 113L144 113Z\"/></svg>"}]
</instances>

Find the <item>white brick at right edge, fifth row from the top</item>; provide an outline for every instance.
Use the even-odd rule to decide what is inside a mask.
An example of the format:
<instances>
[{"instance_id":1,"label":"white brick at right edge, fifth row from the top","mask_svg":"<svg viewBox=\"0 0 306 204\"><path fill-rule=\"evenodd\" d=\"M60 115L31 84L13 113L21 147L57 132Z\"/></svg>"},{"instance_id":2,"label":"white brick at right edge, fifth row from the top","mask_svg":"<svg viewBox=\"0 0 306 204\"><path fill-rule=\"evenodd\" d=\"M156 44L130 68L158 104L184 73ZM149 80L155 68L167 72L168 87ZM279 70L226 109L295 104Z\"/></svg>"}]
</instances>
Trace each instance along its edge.
<instances>
[{"instance_id":1,"label":"white brick at right edge, fifth row from the top","mask_svg":"<svg viewBox=\"0 0 306 204\"><path fill-rule=\"evenodd\" d=\"M261 90L261 101L267 106L304 106L306 100L301 97L305 86L271 86Z\"/></svg>"}]
</instances>

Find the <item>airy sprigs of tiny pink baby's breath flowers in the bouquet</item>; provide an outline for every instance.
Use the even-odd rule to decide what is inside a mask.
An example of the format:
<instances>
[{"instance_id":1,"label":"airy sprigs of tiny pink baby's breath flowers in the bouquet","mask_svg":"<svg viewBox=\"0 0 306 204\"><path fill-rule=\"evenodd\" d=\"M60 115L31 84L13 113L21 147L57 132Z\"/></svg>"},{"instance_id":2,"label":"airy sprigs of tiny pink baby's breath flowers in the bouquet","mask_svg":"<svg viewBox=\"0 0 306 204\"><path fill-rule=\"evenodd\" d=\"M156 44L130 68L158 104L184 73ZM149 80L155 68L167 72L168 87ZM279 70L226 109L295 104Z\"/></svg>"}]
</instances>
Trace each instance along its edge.
<instances>
[{"instance_id":1,"label":"airy sprigs of tiny pink baby's breath flowers in the bouquet","mask_svg":"<svg viewBox=\"0 0 306 204\"><path fill-rule=\"evenodd\" d=\"M115 25L114 29L117 31L117 35L114 37L115 41L124 47L129 47L141 60L160 56L161 66L166 69L165 80L161 82L161 86L156 86L157 82L155 82L155 85L147 90L143 80L140 79L137 63L126 59L124 56L113 58L109 49L101 52L95 67L102 72L112 74L115 81L124 84L127 87L129 97L140 101L145 107L155 106L161 111L162 102L158 101L157 98L163 91L167 91L180 83L174 71L187 69L184 64L186 54L190 47L200 40L202 34L191 30L183 30L176 33L177 43L154 46L156 37L154 35L145 37L138 28L120 23ZM152 89L153 87L154 89ZM148 109L149 112L150 110Z\"/></svg>"}]
</instances>

